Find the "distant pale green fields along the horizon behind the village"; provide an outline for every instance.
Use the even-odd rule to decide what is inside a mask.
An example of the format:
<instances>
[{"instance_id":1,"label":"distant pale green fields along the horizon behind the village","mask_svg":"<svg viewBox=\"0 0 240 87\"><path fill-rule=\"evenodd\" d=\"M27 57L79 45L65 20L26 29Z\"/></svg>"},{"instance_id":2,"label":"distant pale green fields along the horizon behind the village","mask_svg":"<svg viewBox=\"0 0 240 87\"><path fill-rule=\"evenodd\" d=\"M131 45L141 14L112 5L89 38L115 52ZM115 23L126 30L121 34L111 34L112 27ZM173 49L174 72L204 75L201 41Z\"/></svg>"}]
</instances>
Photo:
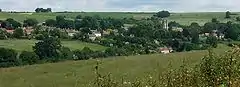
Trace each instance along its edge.
<instances>
[{"instance_id":1,"label":"distant pale green fields along the horizon behind the village","mask_svg":"<svg viewBox=\"0 0 240 87\"><path fill-rule=\"evenodd\" d=\"M113 18L149 18L154 13L130 13L130 12L76 12L76 13L0 13L0 20L6 18L13 18L20 22L23 22L26 18L36 18L38 21L43 22L46 19L54 19L57 15L65 15L68 19L73 19L77 15L82 16L94 16L100 17L113 17ZM211 21L212 18L217 18L221 22L235 21L240 13L234 13L231 19L225 19L225 12L198 12L198 13L172 13L169 17L170 21L176 21L183 25L189 25L192 22L197 22L203 25L206 22Z\"/></svg>"}]
</instances>

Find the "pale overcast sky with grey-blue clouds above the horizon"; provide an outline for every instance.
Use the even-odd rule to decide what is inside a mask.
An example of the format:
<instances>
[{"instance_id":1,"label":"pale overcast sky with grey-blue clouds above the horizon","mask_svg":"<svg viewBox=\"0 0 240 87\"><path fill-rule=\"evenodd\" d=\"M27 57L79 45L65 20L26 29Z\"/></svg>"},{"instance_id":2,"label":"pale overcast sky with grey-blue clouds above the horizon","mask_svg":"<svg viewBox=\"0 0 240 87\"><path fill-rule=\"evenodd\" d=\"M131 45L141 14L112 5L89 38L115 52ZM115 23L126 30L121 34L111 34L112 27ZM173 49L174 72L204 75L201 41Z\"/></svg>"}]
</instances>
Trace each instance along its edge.
<instances>
[{"instance_id":1,"label":"pale overcast sky with grey-blue clouds above the horizon","mask_svg":"<svg viewBox=\"0 0 240 87\"><path fill-rule=\"evenodd\" d=\"M240 11L240 0L0 0L0 8L7 11L37 7L53 11Z\"/></svg>"}]
</instances>

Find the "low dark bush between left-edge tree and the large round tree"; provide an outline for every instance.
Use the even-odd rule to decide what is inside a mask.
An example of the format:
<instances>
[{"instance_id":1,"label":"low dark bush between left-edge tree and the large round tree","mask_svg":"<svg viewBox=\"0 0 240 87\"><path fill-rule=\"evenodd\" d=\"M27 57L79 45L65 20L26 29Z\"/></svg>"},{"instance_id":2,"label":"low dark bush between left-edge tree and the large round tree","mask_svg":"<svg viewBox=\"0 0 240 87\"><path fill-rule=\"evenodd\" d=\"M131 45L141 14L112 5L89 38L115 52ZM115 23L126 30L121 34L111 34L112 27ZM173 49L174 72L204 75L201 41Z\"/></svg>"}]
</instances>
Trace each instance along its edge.
<instances>
[{"instance_id":1,"label":"low dark bush between left-edge tree and the large round tree","mask_svg":"<svg viewBox=\"0 0 240 87\"><path fill-rule=\"evenodd\" d=\"M21 60L22 65L33 65L36 64L40 58L34 52L23 51L19 55L19 59Z\"/></svg>"}]
</instances>

